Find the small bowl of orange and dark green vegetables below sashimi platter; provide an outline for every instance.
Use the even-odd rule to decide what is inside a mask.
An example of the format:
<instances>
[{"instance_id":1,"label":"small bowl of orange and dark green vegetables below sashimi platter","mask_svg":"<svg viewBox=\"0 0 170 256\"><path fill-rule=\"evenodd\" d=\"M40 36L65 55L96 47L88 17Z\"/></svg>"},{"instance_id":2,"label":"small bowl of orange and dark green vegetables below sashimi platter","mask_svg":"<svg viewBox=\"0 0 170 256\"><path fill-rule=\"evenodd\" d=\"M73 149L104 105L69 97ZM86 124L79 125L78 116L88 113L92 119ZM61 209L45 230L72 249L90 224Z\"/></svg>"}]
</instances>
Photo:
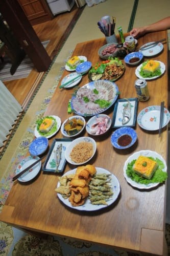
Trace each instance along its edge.
<instances>
[{"instance_id":1,"label":"small bowl of orange and dark green vegetables below sashimi platter","mask_svg":"<svg viewBox=\"0 0 170 256\"><path fill-rule=\"evenodd\" d=\"M64 126L65 126L66 123L70 123L71 120L73 121L73 119L75 119L75 121L77 121L77 122L78 122L78 120L80 120L81 123L83 123L83 126L81 125L81 126L82 126L82 129L79 130L79 127L81 127L81 126L79 125L79 123L77 123L78 129L76 129L76 127L75 127L75 129L74 129L74 127L73 127L74 130L72 130L72 133L74 133L74 134L71 135L71 134L68 134L68 133L65 131ZM82 116L71 116L71 117L67 118L67 119L62 123L62 125L61 125L61 133L62 133L62 135L64 135L65 137L68 137L68 138L72 138L72 137L78 136L79 134L81 134L81 133L83 132L84 127L85 127L85 124L86 124L86 121L85 121L84 117L82 117Z\"/></svg>"}]
</instances>

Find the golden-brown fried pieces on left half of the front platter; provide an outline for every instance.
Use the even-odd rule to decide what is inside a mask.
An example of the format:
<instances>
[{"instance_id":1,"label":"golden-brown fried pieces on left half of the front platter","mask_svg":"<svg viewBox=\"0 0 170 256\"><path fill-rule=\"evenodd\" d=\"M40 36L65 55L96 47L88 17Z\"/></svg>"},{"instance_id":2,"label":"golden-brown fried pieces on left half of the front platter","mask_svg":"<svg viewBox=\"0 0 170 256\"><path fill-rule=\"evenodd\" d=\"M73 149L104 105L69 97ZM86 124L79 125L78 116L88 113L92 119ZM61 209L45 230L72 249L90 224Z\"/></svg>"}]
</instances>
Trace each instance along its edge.
<instances>
[{"instance_id":1,"label":"golden-brown fried pieces on left half of the front platter","mask_svg":"<svg viewBox=\"0 0 170 256\"><path fill-rule=\"evenodd\" d=\"M69 189L69 198L72 206L80 206L85 203L85 199L89 195L89 182L93 175L96 173L96 169L93 165L87 164L85 166L79 166L76 169L76 173L71 180L65 183L65 186L61 184L58 188L55 189L60 194L64 194L65 187L65 196L68 195ZM65 176L64 176L65 177ZM63 177L63 178L64 178ZM60 178L61 181L62 178ZM68 196L67 196L68 197Z\"/></svg>"}]
</instances>

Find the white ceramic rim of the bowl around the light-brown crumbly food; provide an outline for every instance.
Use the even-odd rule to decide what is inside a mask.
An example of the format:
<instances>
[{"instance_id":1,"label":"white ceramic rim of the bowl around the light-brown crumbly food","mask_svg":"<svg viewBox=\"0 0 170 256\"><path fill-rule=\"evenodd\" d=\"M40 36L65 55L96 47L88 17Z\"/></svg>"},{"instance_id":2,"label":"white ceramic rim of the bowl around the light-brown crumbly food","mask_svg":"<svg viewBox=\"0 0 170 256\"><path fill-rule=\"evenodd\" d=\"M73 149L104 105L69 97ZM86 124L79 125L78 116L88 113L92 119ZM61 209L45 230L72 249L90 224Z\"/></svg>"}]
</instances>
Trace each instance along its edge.
<instances>
[{"instance_id":1,"label":"white ceramic rim of the bowl around the light-brown crumbly food","mask_svg":"<svg viewBox=\"0 0 170 256\"><path fill-rule=\"evenodd\" d=\"M88 159L82 160L82 161L77 161L77 162L76 162L76 161L74 161L74 160L72 160L72 159L70 158L70 153L71 153L72 149L73 149L76 145L78 145L79 143L81 143L81 142L90 142L90 143L92 143L92 145L93 145L93 151L92 151L91 156L90 156ZM88 150L88 148L87 148L87 150ZM92 138L90 138L90 137L80 137L80 138L77 138L77 139L71 141L70 144L66 147L65 159L66 159L67 162L70 163L70 164L82 165L82 164L85 164L85 163L87 163L88 161L90 161L90 160L92 159L92 157L93 157L94 154L95 154L95 151L96 151L96 143L95 143L95 140L94 140L94 139L92 139ZM80 151L79 151L79 152L80 152ZM78 152L77 155L79 155L79 152ZM80 152L80 153L81 153L81 152ZM84 152L83 152L83 153L84 153ZM82 154L82 155L83 155L83 154Z\"/></svg>"}]
</instances>

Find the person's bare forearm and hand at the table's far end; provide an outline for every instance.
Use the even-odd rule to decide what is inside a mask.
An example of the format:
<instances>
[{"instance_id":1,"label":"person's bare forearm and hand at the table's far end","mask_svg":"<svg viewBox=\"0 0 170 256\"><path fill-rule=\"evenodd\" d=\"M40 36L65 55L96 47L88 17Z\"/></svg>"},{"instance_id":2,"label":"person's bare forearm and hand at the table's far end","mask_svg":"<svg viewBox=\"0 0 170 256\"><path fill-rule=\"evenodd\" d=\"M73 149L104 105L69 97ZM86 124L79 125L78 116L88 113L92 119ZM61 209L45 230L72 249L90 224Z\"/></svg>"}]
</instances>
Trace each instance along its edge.
<instances>
[{"instance_id":1,"label":"person's bare forearm and hand at the table's far end","mask_svg":"<svg viewBox=\"0 0 170 256\"><path fill-rule=\"evenodd\" d=\"M159 20L158 22L153 23L148 26L143 26L141 28L133 28L130 31L130 35L132 35L134 37L140 37L146 33L160 31L160 30L166 30L166 29L170 29L170 16L163 18L163 19Z\"/></svg>"}]
</instances>

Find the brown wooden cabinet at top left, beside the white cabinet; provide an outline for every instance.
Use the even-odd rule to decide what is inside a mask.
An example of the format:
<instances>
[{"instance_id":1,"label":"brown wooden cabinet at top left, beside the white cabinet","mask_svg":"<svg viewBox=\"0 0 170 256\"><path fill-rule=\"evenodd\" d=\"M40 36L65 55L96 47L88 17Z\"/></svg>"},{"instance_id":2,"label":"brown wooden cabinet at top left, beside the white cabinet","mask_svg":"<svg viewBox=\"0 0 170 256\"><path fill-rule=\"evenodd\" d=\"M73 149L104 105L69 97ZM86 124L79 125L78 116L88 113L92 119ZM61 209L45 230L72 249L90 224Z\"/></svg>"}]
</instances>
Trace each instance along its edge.
<instances>
[{"instance_id":1,"label":"brown wooden cabinet at top left, beside the white cabinet","mask_svg":"<svg viewBox=\"0 0 170 256\"><path fill-rule=\"evenodd\" d=\"M45 0L17 0L31 25L36 25L47 20L51 20L54 16Z\"/></svg>"}]
</instances>

